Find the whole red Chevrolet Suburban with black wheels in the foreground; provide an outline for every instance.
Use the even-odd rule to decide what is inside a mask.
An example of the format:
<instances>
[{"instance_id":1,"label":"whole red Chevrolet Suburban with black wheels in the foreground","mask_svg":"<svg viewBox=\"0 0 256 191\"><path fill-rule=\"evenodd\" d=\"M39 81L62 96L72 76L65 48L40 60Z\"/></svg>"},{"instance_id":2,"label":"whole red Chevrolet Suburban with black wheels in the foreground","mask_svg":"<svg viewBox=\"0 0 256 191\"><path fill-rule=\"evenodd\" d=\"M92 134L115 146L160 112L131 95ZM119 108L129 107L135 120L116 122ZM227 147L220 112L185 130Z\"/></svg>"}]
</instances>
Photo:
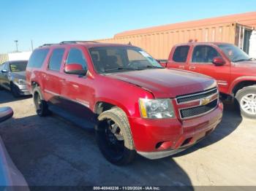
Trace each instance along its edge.
<instances>
[{"instance_id":1,"label":"whole red Chevrolet Suburban with black wheels in the foreground","mask_svg":"<svg viewBox=\"0 0 256 191\"><path fill-rule=\"evenodd\" d=\"M222 119L217 82L165 69L139 47L97 42L45 44L26 69L39 116L56 112L95 129L102 154L116 165L181 152Z\"/></svg>"}]
</instances>

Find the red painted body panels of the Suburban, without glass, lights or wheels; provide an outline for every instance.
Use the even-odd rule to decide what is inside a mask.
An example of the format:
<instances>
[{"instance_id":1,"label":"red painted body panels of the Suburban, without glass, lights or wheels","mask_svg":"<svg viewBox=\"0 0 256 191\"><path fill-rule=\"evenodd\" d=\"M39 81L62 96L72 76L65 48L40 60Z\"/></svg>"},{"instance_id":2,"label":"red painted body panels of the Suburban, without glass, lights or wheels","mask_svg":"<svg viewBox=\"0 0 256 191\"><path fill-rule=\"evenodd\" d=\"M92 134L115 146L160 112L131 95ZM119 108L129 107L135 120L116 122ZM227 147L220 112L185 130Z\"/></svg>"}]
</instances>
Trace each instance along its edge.
<instances>
[{"instance_id":1,"label":"red painted body panels of the Suburban, without glass, lights or wheels","mask_svg":"<svg viewBox=\"0 0 256 191\"><path fill-rule=\"evenodd\" d=\"M98 74L89 55L90 47L124 47L121 44L59 44L49 48L42 68L27 68L26 77L29 90L32 92L33 82L37 82L42 90L45 101L53 101L56 95L79 101L86 105L91 112L95 112L98 102L107 102L123 109L127 114L132 131L135 149L140 152L157 151L156 144L160 141L167 142L159 149L178 149L184 140L192 138L189 144L195 143L206 135L208 130L213 130L222 118L222 104L219 103L214 111L201 117L189 120L181 120L178 109L181 106L193 106L193 104L181 104L178 106L173 100L176 118L149 120L140 117L138 105L139 98L176 98L177 95L197 93L216 86L214 79L203 77L199 74L185 73L170 69L146 69L142 71L127 71L108 75ZM55 48L64 48L64 58L60 71L50 71L48 60ZM83 52L88 65L86 77L67 74L64 69L67 54L70 48L75 47ZM70 68L77 68L70 66ZM58 100L55 102L58 103Z\"/></svg>"}]
</instances>

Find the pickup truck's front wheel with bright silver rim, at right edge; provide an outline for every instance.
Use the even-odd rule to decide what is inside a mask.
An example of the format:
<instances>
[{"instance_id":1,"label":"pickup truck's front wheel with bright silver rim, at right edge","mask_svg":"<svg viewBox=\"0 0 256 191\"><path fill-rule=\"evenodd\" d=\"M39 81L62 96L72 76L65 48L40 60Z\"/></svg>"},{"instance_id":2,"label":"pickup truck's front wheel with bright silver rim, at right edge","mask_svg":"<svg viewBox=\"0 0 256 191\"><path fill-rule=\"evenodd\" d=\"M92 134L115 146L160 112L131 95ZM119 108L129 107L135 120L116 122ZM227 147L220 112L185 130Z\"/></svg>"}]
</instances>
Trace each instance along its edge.
<instances>
[{"instance_id":1,"label":"pickup truck's front wheel with bright silver rim, at right edge","mask_svg":"<svg viewBox=\"0 0 256 191\"><path fill-rule=\"evenodd\" d=\"M244 87L236 93L241 115L256 119L256 85Z\"/></svg>"}]
</instances>

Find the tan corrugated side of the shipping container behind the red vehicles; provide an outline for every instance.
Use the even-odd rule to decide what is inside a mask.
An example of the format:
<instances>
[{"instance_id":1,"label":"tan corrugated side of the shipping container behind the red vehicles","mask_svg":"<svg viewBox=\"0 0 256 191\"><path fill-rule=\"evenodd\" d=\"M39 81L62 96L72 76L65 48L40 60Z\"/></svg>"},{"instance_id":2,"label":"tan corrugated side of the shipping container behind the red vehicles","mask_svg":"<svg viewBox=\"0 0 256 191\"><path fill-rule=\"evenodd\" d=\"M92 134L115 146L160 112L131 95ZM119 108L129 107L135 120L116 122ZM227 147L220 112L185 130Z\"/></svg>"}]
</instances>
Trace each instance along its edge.
<instances>
[{"instance_id":1,"label":"tan corrugated side of the shipping container behind the red vehicles","mask_svg":"<svg viewBox=\"0 0 256 191\"><path fill-rule=\"evenodd\" d=\"M197 42L235 43L236 23L180 28L130 36L116 36L113 39L99 39L98 42L128 44L138 46L154 58L167 59L173 45L197 40Z\"/></svg>"}]
</instances>

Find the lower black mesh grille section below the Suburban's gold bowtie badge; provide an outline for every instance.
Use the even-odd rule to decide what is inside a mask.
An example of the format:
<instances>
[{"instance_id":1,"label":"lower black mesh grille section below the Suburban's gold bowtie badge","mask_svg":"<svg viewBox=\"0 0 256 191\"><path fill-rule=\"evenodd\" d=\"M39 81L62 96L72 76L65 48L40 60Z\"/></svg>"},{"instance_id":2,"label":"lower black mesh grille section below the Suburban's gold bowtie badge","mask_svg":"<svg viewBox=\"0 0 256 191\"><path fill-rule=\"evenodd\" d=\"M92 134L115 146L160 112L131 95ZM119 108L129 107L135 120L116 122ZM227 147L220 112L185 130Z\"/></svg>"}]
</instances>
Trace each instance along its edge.
<instances>
[{"instance_id":1,"label":"lower black mesh grille section below the Suburban's gold bowtie badge","mask_svg":"<svg viewBox=\"0 0 256 191\"><path fill-rule=\"evenodd\" d=\"M207 112L210 112L212 109L216 108L217 104L218 99L215 99L214 101L211 101L211 103L205 106L195 106L188 109L181 109L181 118L196 117L200 114L206 114Z\"/></svg>"}]
</instances>

